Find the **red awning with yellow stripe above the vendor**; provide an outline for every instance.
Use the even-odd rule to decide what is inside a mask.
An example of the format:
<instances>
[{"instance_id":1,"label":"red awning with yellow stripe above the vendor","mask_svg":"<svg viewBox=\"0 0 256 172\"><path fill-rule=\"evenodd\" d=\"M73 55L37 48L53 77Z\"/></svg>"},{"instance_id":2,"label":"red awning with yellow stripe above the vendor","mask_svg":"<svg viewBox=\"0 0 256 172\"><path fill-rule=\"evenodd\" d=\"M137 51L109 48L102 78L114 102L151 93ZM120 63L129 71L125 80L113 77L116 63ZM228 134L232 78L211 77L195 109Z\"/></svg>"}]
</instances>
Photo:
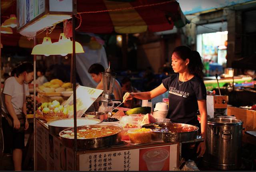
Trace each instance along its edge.
<instances>
[{"instance_id":1,"label":"red awning with yellow stripe above the vendor","mask_svg":"<svg viewBox=\"0 0 256 172\"><path fill-rule=\"evenodd\" d=\"M160 32L189 22L176 0L77 0L77 4L82 18L77 20L78 32Z\"/></svg>"}]
</instances>

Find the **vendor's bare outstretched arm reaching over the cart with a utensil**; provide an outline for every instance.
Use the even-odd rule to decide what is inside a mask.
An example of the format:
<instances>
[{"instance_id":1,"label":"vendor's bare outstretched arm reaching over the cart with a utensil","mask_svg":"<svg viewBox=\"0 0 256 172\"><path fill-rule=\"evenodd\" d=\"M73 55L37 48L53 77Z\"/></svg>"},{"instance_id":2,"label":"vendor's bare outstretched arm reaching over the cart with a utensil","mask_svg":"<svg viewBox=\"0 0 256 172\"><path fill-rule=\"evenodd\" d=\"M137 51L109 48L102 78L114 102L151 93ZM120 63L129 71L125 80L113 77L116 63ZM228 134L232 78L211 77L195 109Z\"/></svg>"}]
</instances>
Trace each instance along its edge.
<instances>
[{"instance_id":1,"label":"vendor's bare outstretched arm reaching over the cart with a utensil","mask_svg":"<svg viewBox=\"0 0 256 172\"><path fill-rule=\"evenodd\" d=\"M140 92L140 93L125 93L123 100L124 102L126 100L131 100L133 97L137 99L142 99L142 100L148 100L148 99L153 99L154 97L161 95L165 93L167 89L164 87L163 83L156 87L155 89L147 92Z\"/></svg>"}]
</instances>

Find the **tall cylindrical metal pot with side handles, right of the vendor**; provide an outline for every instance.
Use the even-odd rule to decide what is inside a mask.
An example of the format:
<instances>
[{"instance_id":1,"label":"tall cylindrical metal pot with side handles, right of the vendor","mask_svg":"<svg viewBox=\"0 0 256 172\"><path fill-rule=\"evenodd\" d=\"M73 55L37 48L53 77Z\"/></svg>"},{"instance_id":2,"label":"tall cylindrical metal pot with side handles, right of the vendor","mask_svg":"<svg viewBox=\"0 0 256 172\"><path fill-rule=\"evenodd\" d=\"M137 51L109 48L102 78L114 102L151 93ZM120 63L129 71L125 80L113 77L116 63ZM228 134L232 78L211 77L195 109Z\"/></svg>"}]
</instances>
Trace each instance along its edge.
<instances>
[{"instance_id":1,"label":"tall cylindrical metal pot with side handles, right of the vendor","mask_svg":"<svg viewBox=\"0 0 256 172\"><path fill-rule=\"evenodd\" d=\"M212 118L208 120L204 164L220 170L241 165L242 121Z\"/></svg>"}]
</instances>

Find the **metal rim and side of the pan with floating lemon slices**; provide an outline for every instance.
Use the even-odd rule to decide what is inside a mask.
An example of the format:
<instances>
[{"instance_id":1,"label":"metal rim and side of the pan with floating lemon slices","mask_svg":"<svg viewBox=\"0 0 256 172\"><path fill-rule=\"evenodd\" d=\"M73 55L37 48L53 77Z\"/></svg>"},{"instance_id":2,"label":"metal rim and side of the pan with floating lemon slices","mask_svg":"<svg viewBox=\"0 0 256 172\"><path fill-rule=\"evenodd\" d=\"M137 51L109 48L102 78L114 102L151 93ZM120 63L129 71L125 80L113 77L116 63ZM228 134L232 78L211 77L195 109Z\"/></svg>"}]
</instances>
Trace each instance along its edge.
<instances>
[{"instance_id":1,"label":"metal rim and side of the pan with floating lemon slices","mask_svg":"<svg viewBox=\"0 0 256 172\"><path fill-rule=\"evenodd\" d=\"M122 131L122 127L118 125L109 125L109 124L98 124L98 125L91 125L90 127L107 127L107 126L114 126L117 129L120 129L120 132ZM72 128L66 129L70 130ZM63 132L62 130L61 132ZM60 132L60 133L61 133ZM121 135L120 132L110 135L110 136L105 136L105 137L100 137L100 138L79 138L77 139L77 148L78 150L87 150L90 148L102 148L106 146L111 146L114 145L121 140ZM65 138L62 137L61 134L59 134L61 137L61 140L63 144L69 148L73 148L74 146L74 138Z\"/></svg>"}]
</instances>

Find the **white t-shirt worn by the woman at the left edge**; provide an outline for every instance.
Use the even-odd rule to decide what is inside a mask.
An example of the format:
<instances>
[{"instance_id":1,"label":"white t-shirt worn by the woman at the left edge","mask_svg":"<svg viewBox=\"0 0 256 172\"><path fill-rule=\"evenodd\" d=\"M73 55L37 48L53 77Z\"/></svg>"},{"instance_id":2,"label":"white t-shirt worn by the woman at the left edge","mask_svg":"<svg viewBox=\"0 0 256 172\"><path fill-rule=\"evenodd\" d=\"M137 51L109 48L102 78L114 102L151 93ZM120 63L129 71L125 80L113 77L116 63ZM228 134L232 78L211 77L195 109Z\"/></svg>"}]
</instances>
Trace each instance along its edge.
<instances>
[{"instance_id":1,"label":"white t-shirt worn by the woman at the left edge","mask_svg":"<svg viewBox=\"0 0 256 172\"><path fill-rule=\"evenodd\" d=\"M8 113L4 103L4 94L12 96L12 106L16 114L22 113L22 106L24 103L24 96L29 95L28 84L23 83L20 85L15 77L9 77L4 82L4 89L2 91L2 111ZM3 116L3 115L2 115Z\"/></svg>"}]
</instances>

